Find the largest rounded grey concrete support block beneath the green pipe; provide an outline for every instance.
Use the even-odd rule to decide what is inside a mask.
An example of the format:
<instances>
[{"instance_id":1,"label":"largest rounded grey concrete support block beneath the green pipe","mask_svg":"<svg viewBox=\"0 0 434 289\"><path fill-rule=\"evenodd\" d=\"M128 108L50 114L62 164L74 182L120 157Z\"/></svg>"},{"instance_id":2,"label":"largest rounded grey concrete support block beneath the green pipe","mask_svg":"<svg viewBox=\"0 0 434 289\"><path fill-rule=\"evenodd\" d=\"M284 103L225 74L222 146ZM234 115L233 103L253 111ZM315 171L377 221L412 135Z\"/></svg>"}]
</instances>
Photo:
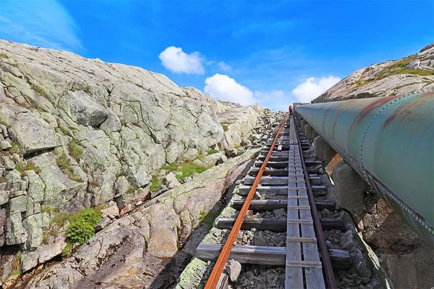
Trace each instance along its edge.
<instances>
[{"instance_id":1,"label":"largest rounded grey concrete support block beneath the green pipe","mask_svg":"<svg viewBox=\"0 0 434 289\"><path fill-rule=\"evenodd\" d=\"M347 209L355 219L357 228L363 232L363 193L368 184L346 162L341 161L333 167L335 195L338 205Z\"/></svg>"}]
</instances>

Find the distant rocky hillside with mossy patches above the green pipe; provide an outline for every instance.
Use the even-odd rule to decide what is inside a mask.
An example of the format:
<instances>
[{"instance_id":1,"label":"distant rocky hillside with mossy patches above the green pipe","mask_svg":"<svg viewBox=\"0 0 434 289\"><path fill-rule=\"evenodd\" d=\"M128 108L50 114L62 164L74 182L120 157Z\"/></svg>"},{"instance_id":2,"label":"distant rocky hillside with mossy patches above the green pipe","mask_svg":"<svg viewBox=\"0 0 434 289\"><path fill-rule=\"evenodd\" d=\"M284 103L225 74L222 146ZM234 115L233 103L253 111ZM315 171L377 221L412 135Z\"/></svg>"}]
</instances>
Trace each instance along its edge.
<instances>
[{"instance_id":1,"label":"distant rocky hillside with mossy patches above the green pipe","mask_svg":"<svg viewBox=\"0 0 434 289\"><path fill-rule=\"evenodd\" d=\"M434 43L414 55L359 69L315 98L312 103L433 90Z\"/></svg>"}]
</instances>

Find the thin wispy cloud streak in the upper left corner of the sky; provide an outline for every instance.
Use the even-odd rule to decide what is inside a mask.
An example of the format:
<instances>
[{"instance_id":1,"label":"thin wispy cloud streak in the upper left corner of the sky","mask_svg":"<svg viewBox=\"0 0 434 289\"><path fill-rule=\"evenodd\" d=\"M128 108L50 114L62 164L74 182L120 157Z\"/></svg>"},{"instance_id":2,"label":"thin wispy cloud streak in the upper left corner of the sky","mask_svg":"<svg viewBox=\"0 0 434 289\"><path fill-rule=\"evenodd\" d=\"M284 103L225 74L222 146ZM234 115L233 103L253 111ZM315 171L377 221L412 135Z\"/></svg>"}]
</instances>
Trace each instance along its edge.
<instances>
[{"instance_id":1,"label":"thin wispy cloud streak in the upper left corner of the sky","mask_svg":"<svg viewBox=\"0 0 434 289\"><path fill-rule=\"evenodd\" d=\"M68 11L55 0L1 1L0 39L54 49L85 50Z\"/></svg>"}]
</instances>

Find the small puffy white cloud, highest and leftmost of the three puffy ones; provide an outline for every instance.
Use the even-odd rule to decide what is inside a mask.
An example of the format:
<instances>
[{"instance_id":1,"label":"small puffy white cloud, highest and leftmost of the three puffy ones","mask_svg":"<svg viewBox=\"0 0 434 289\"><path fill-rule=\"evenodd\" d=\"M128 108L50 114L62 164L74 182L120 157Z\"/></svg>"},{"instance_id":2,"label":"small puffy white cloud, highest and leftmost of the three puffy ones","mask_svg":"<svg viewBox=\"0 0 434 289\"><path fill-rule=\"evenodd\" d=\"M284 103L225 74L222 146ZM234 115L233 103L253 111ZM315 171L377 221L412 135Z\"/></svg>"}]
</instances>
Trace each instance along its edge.
<instances>
[{"instance_id":1,"label":"small puffy white cloud, highest and leftmost of the three puffy ones","mask_svg":"<svg viewBox=\"0 0 434 289\"><path fill-rule=\"evenodd\" d=\"M199 52L190 54L182 51L182 48L169 46L158 55L164 67L174 73L204 74L205 59Z\"/></svg>"}]
</instances>

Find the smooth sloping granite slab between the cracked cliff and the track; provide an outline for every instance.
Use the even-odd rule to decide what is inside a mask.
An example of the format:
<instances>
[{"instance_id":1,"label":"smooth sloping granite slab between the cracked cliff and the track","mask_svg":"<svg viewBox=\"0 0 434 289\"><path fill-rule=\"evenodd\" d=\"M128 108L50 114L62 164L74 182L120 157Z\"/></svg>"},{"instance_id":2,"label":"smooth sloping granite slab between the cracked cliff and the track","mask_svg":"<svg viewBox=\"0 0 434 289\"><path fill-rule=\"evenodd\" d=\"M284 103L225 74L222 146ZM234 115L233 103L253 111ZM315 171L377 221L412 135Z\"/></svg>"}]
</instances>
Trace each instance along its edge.
<instances>
[{"instance_id":1,"label":"smooth sloping granite slab between the cracked cliff and the track","mask_svg":"<svg viewBox=\"0 0 434 289\"><path fill-rule=\"evenodd\" d=\"M258 150L210 168L117 219L25 288L166 288L159 283L164 267L199 225L201 213L216 206Z\"/></svg>"}]
</instances>

